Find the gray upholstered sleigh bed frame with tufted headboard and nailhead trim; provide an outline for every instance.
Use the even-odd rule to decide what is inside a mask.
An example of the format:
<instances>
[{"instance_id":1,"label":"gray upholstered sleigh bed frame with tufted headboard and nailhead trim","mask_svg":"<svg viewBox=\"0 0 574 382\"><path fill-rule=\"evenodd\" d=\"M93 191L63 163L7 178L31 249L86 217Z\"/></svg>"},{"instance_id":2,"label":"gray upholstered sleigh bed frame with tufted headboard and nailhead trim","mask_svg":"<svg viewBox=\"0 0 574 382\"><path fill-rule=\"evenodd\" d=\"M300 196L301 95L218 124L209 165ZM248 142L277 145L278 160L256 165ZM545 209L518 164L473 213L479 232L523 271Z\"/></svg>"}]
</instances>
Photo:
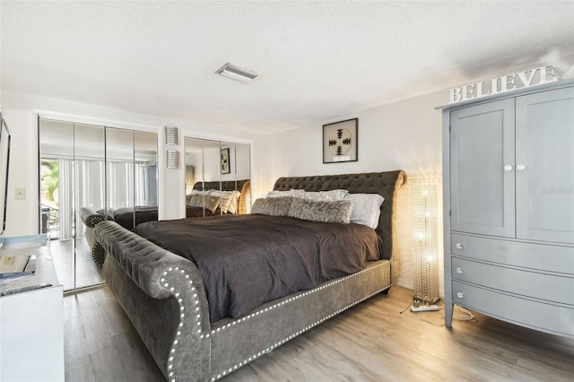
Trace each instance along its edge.
<instances>
[{"instance_id":1,"label":"gray upholstered sleigh bed frame with tufted headboard and nailhead trim","mask_svg":"<svg viewBox=\"0 0 574 382\"><path fill-rule=\"evenodd\" d=\"M240 311L239 317L233 317L236 312L212 319L204 270L196 260L153 244L114 221L103 221L94 231L107 253L103 275L169 381L214 381L396 283L400 269L396 194L405 180L400 170L279 178L274 185L277 191L345 189L382 195L385 201L374 230L382 253L354 273L268 300L248 312ZM215 216L201 221L230 223L240 218ZM152 224L164 223L144 223L138 230Z\"/></svg>"}]
</instances>

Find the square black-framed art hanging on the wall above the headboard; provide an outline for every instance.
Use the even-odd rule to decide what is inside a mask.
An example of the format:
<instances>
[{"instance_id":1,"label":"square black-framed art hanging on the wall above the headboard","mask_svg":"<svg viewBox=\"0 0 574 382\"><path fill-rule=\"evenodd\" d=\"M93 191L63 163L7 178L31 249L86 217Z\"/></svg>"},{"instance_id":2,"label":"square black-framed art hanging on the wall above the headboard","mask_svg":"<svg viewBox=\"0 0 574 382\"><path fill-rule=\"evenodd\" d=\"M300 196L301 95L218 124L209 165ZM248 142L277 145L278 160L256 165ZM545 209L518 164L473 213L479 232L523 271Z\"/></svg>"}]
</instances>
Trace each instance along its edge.
<instances>
[{"instance_id":1,"label":"square black-framed art hanging on the wall above the headboard","mask_svg":"<svg viewBox=\"0 0 574 382\"><path fill-rule=\"evenodd\" d=\"M359 118L323 125L323 163L358 161Z\"/></svg>"}]
</instances>

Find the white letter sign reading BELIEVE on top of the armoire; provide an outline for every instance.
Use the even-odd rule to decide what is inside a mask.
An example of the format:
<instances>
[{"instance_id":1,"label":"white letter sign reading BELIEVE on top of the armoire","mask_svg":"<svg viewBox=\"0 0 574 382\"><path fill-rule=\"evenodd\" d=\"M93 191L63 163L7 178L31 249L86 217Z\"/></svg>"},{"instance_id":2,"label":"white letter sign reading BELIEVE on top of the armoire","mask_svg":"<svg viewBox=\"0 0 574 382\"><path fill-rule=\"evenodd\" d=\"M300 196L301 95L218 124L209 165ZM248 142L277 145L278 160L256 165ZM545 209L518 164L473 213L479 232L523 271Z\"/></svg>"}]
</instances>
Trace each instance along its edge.
<instances>
[{"instance_id":1,"label":"white letter sign reading BELIEVE on top of the armoire","mask_svg":"<svg viewBox=\"0 0 574 382\"><path fill-rule=\"evenodd\" d=\"M503 75L490 81L471 83L461 88L451 89L448 103L474 100L491 94L499 94L505 91L513 91L519 88L542 85L548 82L558 81L554 74L554 65L540 66L515 74Z\"/></svg>"}]
</instances>

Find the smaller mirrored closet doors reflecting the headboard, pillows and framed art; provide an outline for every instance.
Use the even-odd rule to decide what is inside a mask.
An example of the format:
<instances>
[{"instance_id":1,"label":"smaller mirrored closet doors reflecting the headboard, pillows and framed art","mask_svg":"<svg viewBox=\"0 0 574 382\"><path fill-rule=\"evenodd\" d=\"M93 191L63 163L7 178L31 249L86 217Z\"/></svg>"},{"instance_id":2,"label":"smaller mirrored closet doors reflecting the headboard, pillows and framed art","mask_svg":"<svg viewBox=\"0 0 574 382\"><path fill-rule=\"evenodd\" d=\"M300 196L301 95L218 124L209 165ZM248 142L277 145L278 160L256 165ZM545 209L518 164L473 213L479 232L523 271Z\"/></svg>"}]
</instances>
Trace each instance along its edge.
<instances>
[{"instance_id":1,"label":"smaller mirrored closet doors reflecting the headboard, pillows and framed art","mask_svg":"<svg viewBox=\"0 0 574 382\"><path fill-rule=\"evenodd\" d=\"M186 216L248 213L249 144L185 138Z\"/></svg>"}]
</instances>

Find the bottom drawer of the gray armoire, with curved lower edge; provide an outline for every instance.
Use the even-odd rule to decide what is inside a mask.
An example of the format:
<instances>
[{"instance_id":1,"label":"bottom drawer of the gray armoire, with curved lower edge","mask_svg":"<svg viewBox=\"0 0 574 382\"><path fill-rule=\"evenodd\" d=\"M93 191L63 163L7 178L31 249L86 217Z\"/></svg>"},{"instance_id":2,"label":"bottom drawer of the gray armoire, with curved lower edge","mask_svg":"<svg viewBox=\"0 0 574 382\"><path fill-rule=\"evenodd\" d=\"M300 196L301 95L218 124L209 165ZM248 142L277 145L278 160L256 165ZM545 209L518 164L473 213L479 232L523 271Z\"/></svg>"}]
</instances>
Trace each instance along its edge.
<instances>
[{"instance_id":1,"label":"bottom drawer of the gray armoire, with curved lower edge","mask_svg":"<svg viewBox=\"0 0 574 382\"><path fill-rule=\"evenodd\" d=\"M452 282L453 302L486 315L552 334L574 337L574 308L525 300L464 282Z\"/></svg>"}]
</instances>

